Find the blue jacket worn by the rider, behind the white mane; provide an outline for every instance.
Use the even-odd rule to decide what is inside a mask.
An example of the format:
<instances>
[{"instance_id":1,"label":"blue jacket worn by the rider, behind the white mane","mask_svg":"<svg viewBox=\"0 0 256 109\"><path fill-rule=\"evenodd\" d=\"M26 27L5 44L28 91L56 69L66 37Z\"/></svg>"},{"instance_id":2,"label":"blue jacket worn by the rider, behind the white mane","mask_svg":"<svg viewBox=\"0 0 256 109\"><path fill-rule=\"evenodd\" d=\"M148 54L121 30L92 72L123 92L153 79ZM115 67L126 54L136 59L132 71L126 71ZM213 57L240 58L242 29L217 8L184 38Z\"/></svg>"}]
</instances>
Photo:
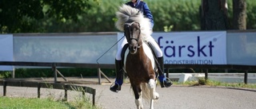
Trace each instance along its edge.
<instances>
[{"instance_id":1,"label":"blue jacket worn by the rider, behind the white mane","mask_svg":"<svg viewBox=\"0 0 256 109\"><path fill-rule=\"evenodd\" d=\"M150 19L151 22L151 29L153 29L154 26L154 18L151 14L149 6L146 5L146 2L142 2L141 0L137 0L137 3L134 5L133 2L127 2L126 5L134 7L138 10L140 10L146 18Z\"/></svg>"}]
</instances>

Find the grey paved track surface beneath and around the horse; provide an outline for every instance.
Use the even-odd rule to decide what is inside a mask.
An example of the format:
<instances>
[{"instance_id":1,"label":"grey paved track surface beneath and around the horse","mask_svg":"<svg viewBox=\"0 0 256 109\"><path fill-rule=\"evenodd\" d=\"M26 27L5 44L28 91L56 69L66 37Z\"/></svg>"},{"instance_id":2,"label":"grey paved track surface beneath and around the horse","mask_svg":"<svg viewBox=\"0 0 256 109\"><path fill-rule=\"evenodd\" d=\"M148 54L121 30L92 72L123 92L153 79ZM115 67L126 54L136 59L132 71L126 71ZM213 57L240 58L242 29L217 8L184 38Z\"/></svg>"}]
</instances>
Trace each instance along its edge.
<instances>
[{"instance_id":1,"label":"grey paved track surface beneath and around the horse","mask_svg":"<svg viewBox=\"0 0 256 109\"><path fill-rule=\"evenodd\" d=\"M110 84L86 84L95 88L96 105L102 109L134 109L134 95L130 84L122 85L118 93L109 90ZM0 86L0 96L3 94ZM184 87L172 86L158 88L160 98L154 102L155 109L254 109L256 107L256 90L234 89L222 87ZM75 100L81 93L68 91L68 100ZM23 88L7 86L6 96L10 97L37 97L37 88ZM64 91L58 89L42 88L42 98L54 97L62 99ZM89 96L91 98L91 96ZM150 108L150 103L143 103L144 108Z\"/></svg>"}]
</instances>

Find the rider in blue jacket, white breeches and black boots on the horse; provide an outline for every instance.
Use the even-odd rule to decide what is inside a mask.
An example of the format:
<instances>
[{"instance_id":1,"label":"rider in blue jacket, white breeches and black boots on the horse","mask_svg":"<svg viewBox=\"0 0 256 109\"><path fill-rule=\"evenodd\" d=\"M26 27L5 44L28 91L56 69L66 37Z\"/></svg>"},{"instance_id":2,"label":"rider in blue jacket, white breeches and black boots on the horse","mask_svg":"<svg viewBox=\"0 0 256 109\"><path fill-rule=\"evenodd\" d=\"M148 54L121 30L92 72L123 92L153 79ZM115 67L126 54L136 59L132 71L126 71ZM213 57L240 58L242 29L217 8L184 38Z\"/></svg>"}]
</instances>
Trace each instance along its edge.
<instances>
[{"instance_id":1,"label":"rider in blue jacket, white breeches and black boots on the horse","mask_svg":"<svg viewBox=\"0 0 256 109\"><path fill-rule=\"evenodd\" d=\"M126 5L134 7L140 12L144 14L146 18L150 19L151 22L151 29L153 29L154 26L154 19L153 15L150 12L149 7L146 5L146 2L142 2L142 0L130 0L130 2L127 2ZM149 43L150 45L153 45L154 51L156 52L156 55L158 56L158 63L159 67L161 68L160 70L158 69L158 80L160 81L161 87L168 88L172 85L172 83L169 80L166 80L166 76L164 76L162 70L163 70L163 57L162 57L162 51L159 48L159 45L154 41L153 37L149 37ZM116 80L114 82L114 86L110 87L110 91L118 92L121 90L121 85L123 82L123 71L122 71L122 48L126 44L126 41L122 41L121 47L118 49L116 59L115 59L115 66L116 66Z\"/></svg>"}]
</instances>

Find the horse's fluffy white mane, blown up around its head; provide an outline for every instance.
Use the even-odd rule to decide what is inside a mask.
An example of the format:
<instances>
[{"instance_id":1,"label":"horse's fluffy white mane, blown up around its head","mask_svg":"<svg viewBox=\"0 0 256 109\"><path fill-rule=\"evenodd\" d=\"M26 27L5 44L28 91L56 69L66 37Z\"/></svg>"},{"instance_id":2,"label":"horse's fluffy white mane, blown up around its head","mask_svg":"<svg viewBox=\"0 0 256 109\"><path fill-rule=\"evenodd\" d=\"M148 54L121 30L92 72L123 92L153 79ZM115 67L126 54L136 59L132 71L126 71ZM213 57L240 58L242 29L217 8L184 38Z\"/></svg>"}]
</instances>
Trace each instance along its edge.
<instances>
[{"instance_id":1,"label":"horse's fluffy white mane, blown up around its head","mask_svg":"<svg viewBox=\"0 0 256 109\"><path fill-rule=\"evenodd\" d=\"M144 18L143 14L139 12L139 10L127 6L123 4L119 7L118 12L116 12L116 16L118 18L118 21L115 23L115 26L120 31L124 31L124 24L126 21L137 21L141 26L141 33L144 37L144 40L146 40L146 37L150 36L152 33L151 30L151 23L149 18Z\"/></svg>"}]
</instances>

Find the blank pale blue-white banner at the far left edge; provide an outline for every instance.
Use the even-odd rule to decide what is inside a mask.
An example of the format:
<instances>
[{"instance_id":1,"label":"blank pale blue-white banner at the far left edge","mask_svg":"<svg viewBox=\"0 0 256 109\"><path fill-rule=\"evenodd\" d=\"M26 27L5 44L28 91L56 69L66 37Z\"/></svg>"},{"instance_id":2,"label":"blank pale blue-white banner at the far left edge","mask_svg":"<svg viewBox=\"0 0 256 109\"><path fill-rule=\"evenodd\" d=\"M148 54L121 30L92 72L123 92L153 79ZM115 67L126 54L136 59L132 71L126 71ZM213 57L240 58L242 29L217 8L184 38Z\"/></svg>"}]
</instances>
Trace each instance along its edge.
<instances>
[{"instance_id":1,"label":"blank pale blue-white banner at the far left edge","mask_svg":"<svg viewBox=\"0 0 256 109\"><path fill-rule=\"evenodd\" d=\"M0 61L14 60L14 45L12 34L0 35ZM0 65L0 71L12 71L13 66Z\"/></svg>"}]
</instances>

